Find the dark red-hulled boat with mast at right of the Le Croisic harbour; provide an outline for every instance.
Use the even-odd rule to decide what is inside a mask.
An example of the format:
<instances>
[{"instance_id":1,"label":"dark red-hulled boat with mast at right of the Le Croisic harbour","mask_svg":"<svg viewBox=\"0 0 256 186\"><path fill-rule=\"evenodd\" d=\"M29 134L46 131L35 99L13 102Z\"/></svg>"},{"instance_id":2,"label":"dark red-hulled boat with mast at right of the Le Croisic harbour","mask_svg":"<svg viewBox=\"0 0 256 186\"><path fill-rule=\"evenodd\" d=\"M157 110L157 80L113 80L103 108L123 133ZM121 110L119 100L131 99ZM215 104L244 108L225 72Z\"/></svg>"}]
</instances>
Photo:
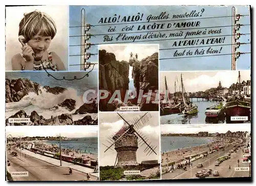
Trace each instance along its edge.
<instances>
[{"instance_id":1,"label":"dark red-hulled boat with mast at right of the Le Croisic harbour","mask_svg":"<svg viewBox=\"0 0 256 186\"><path fill-rule=\"evenodd\" d=\"M227 120L230 120L230 117L232 117L232 116L247 116L248 121L250 121L251 103L244 101L244 99L241 97L240 71L239 71L238 78L239 78L239 97L236 97L235 100L232 100L232 101L229 101L226 103L225 114L226 114Z\"/></svg>"}]
</instances>

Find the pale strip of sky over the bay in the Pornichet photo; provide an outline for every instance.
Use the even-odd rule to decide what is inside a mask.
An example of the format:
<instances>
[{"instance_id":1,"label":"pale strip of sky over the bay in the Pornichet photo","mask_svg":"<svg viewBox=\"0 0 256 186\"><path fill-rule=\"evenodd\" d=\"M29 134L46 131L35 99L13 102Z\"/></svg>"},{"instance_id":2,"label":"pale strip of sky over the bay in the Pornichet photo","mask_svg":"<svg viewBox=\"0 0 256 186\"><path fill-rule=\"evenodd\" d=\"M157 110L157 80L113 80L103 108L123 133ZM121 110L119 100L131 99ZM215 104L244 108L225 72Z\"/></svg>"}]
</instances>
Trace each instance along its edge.
<instances>
[{"instance_id":1,"label":"pale strip of sky over the bay in the Pornichet photo","mask_svg":"<svg viewBox=\"0 0 256 186\"><path fill-rule=\"evenodd\" d=\"M57 136L68 138L98 137L98 126L61 125L61 126L6 126L6 136L35 137Z\"/></svg>"}]
</instances>

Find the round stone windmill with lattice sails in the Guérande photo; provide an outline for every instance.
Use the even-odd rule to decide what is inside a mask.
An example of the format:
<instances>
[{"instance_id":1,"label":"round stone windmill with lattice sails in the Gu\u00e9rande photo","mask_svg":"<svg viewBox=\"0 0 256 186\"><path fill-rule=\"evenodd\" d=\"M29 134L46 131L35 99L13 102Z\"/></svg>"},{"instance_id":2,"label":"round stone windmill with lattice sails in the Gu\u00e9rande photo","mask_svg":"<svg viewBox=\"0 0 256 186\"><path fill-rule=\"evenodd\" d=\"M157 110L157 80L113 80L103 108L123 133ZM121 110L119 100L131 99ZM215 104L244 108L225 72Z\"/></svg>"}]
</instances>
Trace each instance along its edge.
<instances>
[{"instance_id":1,"label":"round stone windmill with lattice sails in the Gu\u00e9rande photo","mask_svg":"<svg viewBox=\"0 0 256 186\"><path fill-rule=\"evenodd\" d=\"M151 142L148 142L146 136L139 131L139 128L145 125L151 119L151 114L145 113L140 115L139 118L134 118L131 123L126 121L120 114L118 115L124 121L124 126L118 132L116 132L113 137L108 138L107 142L110 143L108 146L103 144L105 147L107 147L104 152L111 149L112 146L115 146L115 150L117 151L117 166L139 165L137 163L136 156L136 151L139 148L138 146L145 146L145 155L150 155L153 152L157 154L155 152L157 146L151 145Z\"/></svg>"}]
</instances>

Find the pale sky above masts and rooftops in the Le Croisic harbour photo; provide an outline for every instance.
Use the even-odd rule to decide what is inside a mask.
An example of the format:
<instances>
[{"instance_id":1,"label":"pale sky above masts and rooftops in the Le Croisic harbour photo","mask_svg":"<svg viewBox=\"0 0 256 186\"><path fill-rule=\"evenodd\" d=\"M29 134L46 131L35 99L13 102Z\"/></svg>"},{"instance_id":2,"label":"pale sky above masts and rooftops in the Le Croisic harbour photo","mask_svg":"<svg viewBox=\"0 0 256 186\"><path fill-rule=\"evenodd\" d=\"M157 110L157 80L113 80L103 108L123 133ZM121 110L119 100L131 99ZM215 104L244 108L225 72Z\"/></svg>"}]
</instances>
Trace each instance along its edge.
<instances>
[{"instance_id":1,"label":"pale sky above masts and rooftops in the Le Croisic harbour photo","mask_svg":"<svg viewBox=\"0 0 256 186\"><path fill-rule=\"evenodd\" d=\"M221 81L222 87L229 88L232 83L237 83L239 72L236 71L197 71L197 72L160 72L160 92L164 90L164 76L166 76L166 82L169 91L172 93L175 91L175 79L178 77L178 83L176 81L176 91L181 91L181 73L183 84L186 92L205 91L209 88L217 88ZM250 70L240 71L241 83L243 81L250 80Z\"/></svg>"}]
</instances>

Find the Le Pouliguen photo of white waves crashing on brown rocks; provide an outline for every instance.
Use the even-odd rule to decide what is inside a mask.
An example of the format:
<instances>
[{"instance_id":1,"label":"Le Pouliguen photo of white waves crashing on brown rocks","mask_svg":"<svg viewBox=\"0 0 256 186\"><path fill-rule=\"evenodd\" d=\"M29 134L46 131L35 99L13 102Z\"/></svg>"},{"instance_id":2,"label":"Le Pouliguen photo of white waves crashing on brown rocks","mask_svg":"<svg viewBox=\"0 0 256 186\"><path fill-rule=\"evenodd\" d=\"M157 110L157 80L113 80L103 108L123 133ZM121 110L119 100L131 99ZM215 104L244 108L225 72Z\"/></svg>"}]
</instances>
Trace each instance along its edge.
<instances>
[{"instance_id":1,"label":"Le Pouliguen photo of white waves crashing on brown rocks","mask_svg":"<svg viewBox=\"0 0 256 186\"><path fill-rule=\"evenodd\" d=\"M98 73L73 81L68 79L84 72L51 75L55 78L45 71L6 72L6 126L98 124Z\"/></svg>"}]
</instances>

